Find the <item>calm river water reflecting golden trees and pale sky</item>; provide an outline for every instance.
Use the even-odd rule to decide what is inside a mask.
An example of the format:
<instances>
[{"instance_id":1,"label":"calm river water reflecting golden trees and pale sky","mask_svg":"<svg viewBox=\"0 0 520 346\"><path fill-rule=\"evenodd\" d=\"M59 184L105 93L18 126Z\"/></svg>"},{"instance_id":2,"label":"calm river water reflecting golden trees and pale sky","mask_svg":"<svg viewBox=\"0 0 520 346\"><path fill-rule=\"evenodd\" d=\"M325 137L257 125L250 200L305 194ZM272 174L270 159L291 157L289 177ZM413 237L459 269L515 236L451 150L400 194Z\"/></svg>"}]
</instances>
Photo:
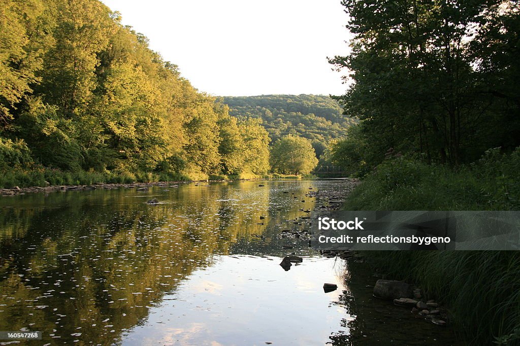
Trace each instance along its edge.
<instances>
[{"instance_id":1,"label":"calm river water reflecting golden trees and pale sky","mask_svg":"<svg viewBox=\"0 0 520 346\"><path fill-rule=\"evenodd\" d=\"M357 275L309 248L304 232L282 232L310 228L300 217L323 201L306 197L309 187L343 181L262 184L0 199L0 330L41 330L43 340L26 342L38 345L375 345L385 335L453 344L446 329L404 324L409 312L373 302L368 270ZM284 271L292 252L304 261ZM339 287L326 294L324 282ZM374 327L385 309L398 316ZM395 334L417 326L419 338Z\"/></svg>"}]
</instances>

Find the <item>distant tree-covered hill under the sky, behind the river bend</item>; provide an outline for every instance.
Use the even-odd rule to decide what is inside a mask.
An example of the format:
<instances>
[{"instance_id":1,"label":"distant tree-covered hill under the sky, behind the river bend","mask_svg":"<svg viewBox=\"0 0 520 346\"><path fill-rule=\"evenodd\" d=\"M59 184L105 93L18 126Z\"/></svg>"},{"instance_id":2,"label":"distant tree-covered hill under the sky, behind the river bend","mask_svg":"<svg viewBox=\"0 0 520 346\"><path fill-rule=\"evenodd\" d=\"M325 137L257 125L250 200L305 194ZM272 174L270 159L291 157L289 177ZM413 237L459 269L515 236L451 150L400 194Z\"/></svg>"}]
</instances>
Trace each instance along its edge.
<instances>
[{"instance_id":1,"label":"distant tree-covered hill under the sky, behind the river bend","mask_svg":"<svg viewBox=\"0 0 520 346\"><path fill-rule=\"evenodd\" d=\"M290 133L310 139L318 156L330 140L343 137L355 123L324 95L226 96L223 102L239 119L262 118L272 142Z\"/></svg>"}]
</instances>

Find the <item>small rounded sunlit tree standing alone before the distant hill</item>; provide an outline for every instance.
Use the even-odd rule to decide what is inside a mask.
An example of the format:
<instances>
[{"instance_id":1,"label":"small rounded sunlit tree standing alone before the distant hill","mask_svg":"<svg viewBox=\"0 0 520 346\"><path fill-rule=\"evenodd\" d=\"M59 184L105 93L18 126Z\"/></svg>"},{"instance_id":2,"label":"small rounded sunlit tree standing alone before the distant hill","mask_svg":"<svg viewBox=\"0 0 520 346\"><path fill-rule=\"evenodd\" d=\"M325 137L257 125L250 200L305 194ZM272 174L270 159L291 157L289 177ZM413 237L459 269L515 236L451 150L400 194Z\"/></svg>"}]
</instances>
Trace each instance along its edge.
<instances>
[{"instance_id":1,"label":"small rounded sunlit tree standing alone before the distant hill","mask_svg":"<svg viewBox=\"0 0 520 346\"><path fill-rule=\"evenodd\" d=\"M283 174L309 174L318 164L311 142L291 134L275 142L270 161L272 169Z\"/></svg>"}]
</instances>

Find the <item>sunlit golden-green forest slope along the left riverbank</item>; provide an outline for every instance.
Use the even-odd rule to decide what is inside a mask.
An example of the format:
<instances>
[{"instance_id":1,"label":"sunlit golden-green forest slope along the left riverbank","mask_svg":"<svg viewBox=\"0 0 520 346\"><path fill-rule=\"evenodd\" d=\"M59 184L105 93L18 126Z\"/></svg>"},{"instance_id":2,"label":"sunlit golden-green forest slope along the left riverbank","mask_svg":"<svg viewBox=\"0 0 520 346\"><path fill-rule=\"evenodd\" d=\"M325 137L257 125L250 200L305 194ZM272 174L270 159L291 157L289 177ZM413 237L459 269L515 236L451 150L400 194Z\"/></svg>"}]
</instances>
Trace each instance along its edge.
<instances>
[{"instance_id":1,"label":"sunlit golden-green forest slope along the left riverbank","mask_svg":"<svg viewBox=\"0 0 520 346\"><path fill-rule=\"evenodd\" d=\"M259 177L269 143L98 0L3 2L0 185Z\"/></svg>"}]
</instances>

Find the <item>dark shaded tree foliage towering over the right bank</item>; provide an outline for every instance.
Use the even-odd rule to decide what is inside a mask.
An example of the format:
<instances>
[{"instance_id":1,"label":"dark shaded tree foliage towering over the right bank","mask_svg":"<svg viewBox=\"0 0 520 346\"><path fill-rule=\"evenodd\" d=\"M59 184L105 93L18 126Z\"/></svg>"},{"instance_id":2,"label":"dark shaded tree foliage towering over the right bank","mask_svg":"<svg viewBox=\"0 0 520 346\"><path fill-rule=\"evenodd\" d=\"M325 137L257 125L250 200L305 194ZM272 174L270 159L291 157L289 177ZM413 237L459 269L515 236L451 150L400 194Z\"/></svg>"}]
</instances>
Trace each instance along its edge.
<instances>
[{"instance_id":1,"label":"dark shaded tree foliage towering over the right bank","mask_svg":"<svg viewBox=\"0 0 520 346\"><path fill-rule=\"evenodd\" d=\"M372 167L389 148L457 165L520 145L518 2L343 5L352 53L331 63L350 71L339 100L361 120Z\"/></svg>"}]
</instances>

